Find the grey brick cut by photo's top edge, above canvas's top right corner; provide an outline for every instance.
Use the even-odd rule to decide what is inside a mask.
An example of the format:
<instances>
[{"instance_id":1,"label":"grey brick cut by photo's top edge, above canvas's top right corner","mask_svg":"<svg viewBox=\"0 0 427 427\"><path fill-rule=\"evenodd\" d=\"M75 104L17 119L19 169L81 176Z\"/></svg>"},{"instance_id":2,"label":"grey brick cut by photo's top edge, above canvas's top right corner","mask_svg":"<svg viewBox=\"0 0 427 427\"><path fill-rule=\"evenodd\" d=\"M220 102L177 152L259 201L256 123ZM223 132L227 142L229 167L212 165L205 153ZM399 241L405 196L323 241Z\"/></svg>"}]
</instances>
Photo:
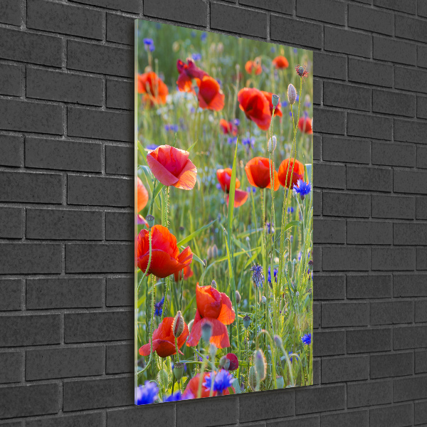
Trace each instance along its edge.
<instances>
[{"instance_id":1,"label":"grey brick cut by photo's top edge, above canvas's top right corner","mask_svg":"<svg viewBox=\"0 0 427 427\"><path fill-rule=\"evenodd\" d=\"M297 0L297 16L345 25L346 6L335 0Z\"/></svg>"}]
</instances>

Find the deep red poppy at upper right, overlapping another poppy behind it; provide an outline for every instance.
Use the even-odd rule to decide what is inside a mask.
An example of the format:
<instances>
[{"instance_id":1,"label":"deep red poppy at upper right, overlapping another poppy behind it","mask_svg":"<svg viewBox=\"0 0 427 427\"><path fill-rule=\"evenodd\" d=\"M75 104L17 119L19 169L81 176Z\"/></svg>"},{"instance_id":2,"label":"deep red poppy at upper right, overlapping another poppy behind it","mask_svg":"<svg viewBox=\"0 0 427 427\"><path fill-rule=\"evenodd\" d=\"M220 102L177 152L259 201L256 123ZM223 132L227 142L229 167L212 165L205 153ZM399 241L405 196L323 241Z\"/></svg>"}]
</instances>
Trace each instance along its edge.
<instances>
[{"instance_id":1,"label":"deep red poppy at upper right, overlapping another poppy behind it","mask_svg":"<svg viewBox=\"0 0 427 427\"><path fill-rule=\"evenodd\" d=\"M270 106L263 93L255 88L243 88L238 91L237 99L240 109L249 120L262 130L268 130L271 122Z\"/></svg>"}]
</instances>

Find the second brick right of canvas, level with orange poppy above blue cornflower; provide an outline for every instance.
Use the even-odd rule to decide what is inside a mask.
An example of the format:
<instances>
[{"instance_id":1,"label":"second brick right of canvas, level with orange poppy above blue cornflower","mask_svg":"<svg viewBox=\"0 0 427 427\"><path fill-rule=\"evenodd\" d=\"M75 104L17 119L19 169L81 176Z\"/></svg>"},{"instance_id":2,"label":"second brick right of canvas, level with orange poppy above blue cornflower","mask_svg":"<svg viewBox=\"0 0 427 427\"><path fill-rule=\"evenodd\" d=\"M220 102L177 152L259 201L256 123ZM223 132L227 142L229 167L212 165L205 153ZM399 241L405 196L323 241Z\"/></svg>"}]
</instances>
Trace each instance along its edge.
<instances>
[{"instance_id":1,"label":"second brick right of canvas, level with orange poppy above blue cornflower","mask_svg":"<svg viewBox=\"0 0 427 427\"><path fill-rule=\"evenodd\" d=\"M379 167L347 166L347 189L392 191L393 172Z\"/></svg>"}]
</instances>

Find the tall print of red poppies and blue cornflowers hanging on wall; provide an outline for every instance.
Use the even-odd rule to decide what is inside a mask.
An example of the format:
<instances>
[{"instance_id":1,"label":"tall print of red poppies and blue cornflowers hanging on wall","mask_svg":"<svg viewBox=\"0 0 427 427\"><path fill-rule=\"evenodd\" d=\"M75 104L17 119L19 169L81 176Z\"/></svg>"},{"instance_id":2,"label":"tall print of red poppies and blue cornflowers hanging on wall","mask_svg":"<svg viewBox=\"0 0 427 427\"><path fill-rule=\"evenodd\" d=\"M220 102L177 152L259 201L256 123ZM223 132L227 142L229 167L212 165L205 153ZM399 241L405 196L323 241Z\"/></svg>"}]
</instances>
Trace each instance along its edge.
<instances>
[{"instance_id":1,"label":"tall print of red poppies and blue cornflowers hanging on wall","mask_svg":"<svg viewBox=\"0 0 427 427\"><path fill-rule=\"evenodd\" d=\"M135 28L135 404L312 384L312 53Z\"/></svg>"}]
</instances>

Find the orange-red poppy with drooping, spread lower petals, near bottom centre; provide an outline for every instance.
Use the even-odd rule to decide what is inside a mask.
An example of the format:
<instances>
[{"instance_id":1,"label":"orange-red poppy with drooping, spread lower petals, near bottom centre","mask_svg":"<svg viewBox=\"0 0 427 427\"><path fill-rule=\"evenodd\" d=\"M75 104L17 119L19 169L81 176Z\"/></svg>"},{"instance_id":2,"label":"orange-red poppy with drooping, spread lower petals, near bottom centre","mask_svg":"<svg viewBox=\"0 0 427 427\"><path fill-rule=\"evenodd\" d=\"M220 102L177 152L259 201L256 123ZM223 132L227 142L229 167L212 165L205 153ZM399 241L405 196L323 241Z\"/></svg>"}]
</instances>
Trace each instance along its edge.
<instances>
[{"instance_id":1,"label":"orange-red poppy with drooping, spread lower petals, near bottom centre","mask_svg":"<svg viewBox=\"0 0 427 427\"><path fill-rule=\"evenodd\" d=\"M196 305L196 316L186 344L189 347L195 347L201 338L201 327L206 322L210 322L212 325L210 342L215 344L218 349L230 347L226 325L231 325L236 319L230 298L210 285L199 286L197 283Z\"/></svg>"}]
</instances>

